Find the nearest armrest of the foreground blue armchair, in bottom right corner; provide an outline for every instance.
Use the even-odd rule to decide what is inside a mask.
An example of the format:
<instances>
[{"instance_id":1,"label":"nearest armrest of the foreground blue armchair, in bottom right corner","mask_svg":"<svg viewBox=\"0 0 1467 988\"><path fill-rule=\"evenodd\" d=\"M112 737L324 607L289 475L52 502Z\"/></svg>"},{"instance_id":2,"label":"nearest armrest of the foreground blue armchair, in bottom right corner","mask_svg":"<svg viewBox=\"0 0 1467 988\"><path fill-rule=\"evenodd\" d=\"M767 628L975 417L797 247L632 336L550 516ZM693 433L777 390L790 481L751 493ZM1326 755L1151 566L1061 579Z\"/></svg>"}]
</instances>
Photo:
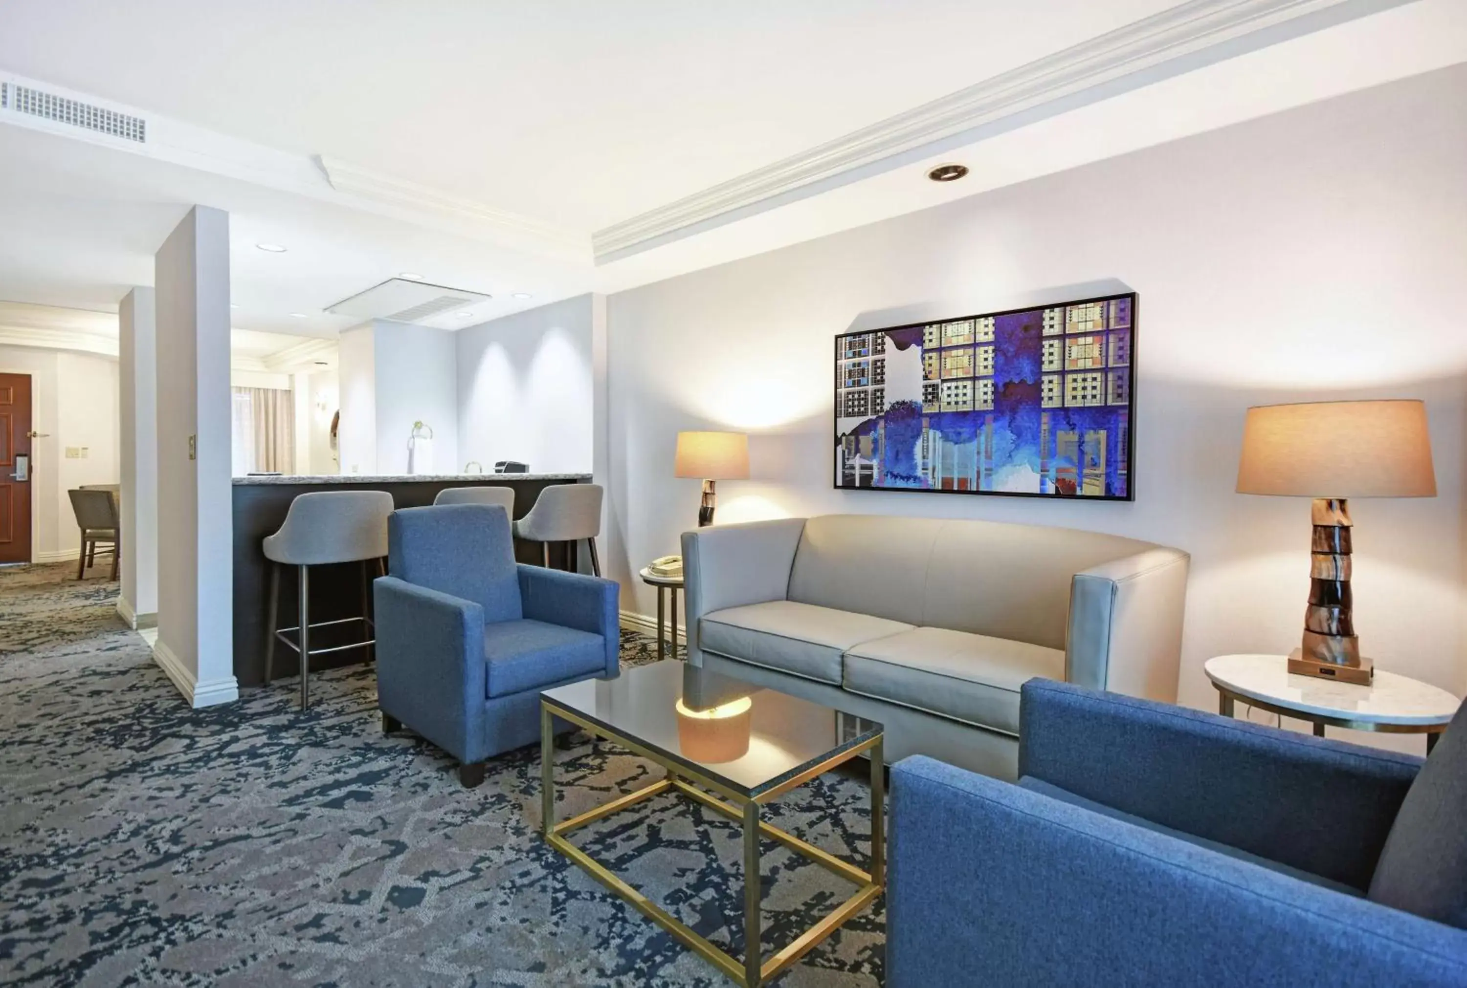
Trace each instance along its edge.
<instances>
[{"instance_id":1,"label":"nearest armrest of the foreground blue armchair, in bottom right corner","mask_svg":"<svg viewBox=\"0 0 1467 988\"><path fill-rule=\"evenodd\" d=\"M886 984L1467 984L1467 932L930 758L892 768Z\"/></svg>"}]
</instances>

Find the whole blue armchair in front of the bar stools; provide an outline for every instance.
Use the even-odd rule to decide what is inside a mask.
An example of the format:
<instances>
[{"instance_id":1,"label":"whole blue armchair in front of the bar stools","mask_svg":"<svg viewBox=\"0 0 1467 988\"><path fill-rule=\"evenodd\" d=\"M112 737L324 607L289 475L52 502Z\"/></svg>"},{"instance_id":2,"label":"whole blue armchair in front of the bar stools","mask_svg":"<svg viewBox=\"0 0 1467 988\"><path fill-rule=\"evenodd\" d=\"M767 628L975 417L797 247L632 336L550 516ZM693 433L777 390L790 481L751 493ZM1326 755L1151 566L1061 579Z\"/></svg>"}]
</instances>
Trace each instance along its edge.
<instances>
[{"instance_id":1,"label":"whole blue armchair in front of the bar stools","mask_svg":"<svg viewBox=\"0 0 1467 988\"><path fill-rule=\"evenodd\" d=\"M383 730L453 755L465 786L484 759L540 740L540 690L616 676L616 583L515 563L503 507L393 512L387 560L373 585Z\"/></svg>"}]
</instances>

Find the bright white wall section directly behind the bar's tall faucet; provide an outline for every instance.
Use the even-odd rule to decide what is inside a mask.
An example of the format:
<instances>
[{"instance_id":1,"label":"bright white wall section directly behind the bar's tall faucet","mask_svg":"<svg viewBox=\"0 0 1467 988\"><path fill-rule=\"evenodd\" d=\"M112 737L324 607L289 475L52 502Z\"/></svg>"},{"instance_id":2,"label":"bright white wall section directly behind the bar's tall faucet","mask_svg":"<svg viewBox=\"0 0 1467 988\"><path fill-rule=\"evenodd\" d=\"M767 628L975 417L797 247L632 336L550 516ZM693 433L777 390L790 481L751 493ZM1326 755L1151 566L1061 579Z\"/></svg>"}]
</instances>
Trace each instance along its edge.
<instances>
[{"instance_id":1,"label":"bright white wall section directly behind the bar's tall faucet","mask_svg":"<svg viewBox=\"0 0 1467 988\"><path fill-rule=\"evenodd\" d=\"M376 344L377 472L408 472L412 424L433 430L433 469L418 473L458 473L458 380L455 342L449 330L427 325L373 322Z\"/></svg>"}]
</instances>

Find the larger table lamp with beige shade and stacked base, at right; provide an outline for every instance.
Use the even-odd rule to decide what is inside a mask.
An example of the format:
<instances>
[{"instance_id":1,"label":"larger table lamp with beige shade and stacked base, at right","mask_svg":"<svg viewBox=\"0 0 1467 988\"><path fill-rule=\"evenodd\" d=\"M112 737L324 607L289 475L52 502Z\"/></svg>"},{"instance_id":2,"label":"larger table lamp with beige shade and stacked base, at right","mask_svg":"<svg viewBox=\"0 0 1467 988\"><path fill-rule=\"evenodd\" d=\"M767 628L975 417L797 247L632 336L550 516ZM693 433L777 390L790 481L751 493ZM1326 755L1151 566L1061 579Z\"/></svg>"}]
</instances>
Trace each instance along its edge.
<instances>
[{"instance_id":1,"label":"larger table lamp with beige shade and stacked base, at right","mask_svg":"<svg viewBox=\"0 0 1467 988\"><path fill-rule=\"evenodd\" d=\"M1351 497L1436 497L1426 405L1414 400L1307 402L1248 409L1240 494L1311 497L1304 641L1288 671L1369 685L1351 614Z\"/></svg>"}]
</instances>

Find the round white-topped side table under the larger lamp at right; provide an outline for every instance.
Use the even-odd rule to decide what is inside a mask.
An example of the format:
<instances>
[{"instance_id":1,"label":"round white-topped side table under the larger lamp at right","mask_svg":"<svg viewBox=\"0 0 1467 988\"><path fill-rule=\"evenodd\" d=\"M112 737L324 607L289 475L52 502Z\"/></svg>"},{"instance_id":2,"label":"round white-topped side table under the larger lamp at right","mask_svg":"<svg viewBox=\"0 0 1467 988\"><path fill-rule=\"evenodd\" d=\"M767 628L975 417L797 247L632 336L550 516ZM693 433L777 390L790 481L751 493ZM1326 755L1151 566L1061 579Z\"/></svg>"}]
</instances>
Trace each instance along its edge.
<instances>
[{"instance_id":1,"label":"round white-topped side table under the larger lamp at right","mask_svg":"<svg viewBox=\"0 0 1467 988\"><path fill-rule=\"evenodd\" d=\"M1292 676L1287 655L1219 655L1203 668L1218 687L1218 712L1223 717L1232 717L1234 702L1243 702L1307 720L1316 737L1325 736L1326 726L1426 734L1427 753L1461 702L1445 689L1379 668L1369 686Z\"/></svg>"}]
</instances>

